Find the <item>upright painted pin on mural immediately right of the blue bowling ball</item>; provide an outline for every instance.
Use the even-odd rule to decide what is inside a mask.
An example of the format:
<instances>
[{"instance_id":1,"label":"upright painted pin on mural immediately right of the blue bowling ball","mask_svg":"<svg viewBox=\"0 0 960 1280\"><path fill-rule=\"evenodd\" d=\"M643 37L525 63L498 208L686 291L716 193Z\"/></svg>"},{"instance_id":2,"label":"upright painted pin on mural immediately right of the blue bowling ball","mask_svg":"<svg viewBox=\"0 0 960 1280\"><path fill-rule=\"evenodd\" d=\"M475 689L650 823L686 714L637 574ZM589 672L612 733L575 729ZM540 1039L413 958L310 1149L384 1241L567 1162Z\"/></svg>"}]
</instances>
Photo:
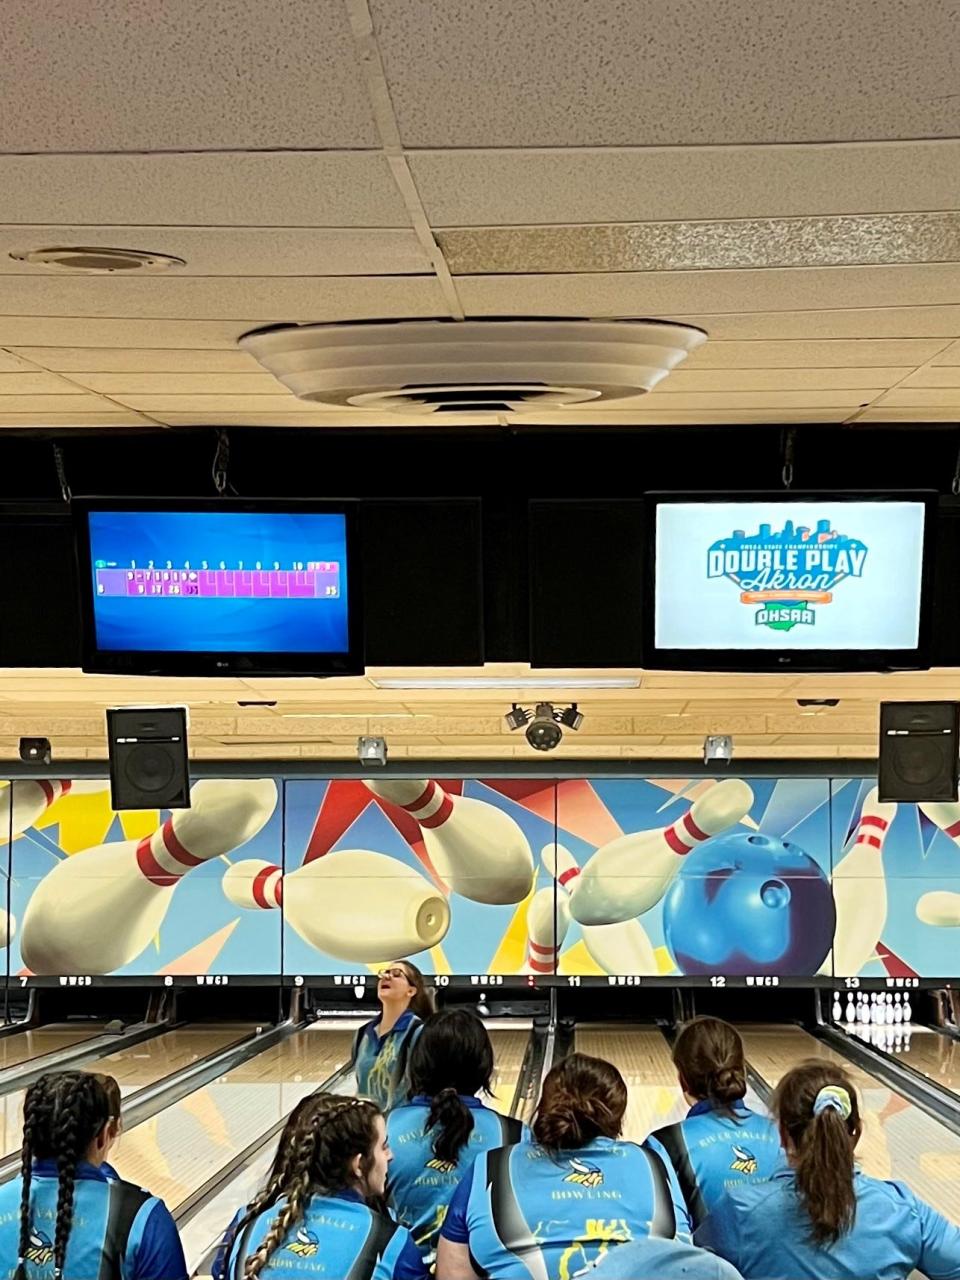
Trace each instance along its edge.
<instances>
[{"instance_id":1,"label":"upright painted pin on mural immediately right of the blue bowling ball","mask_svg":"<svg viewBox=\"0 0 960 1280\"><path fill-rule=\"evenodd\" d=\"M864 796L850 850L833 868L833 972L838 975L852 977L873 959L887 923L883 841L896 812L897 806L879 801L872 787Z\"/></svg>"}]
</instances>

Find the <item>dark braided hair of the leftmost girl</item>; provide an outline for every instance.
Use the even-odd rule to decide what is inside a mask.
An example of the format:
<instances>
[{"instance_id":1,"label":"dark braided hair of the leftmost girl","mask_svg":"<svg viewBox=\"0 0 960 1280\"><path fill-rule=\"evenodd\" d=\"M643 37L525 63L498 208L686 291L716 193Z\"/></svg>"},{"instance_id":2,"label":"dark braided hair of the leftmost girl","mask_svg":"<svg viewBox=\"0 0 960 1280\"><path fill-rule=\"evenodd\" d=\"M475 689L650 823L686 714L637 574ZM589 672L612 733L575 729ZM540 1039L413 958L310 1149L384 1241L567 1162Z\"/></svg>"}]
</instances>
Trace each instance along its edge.
<instances>
[{"instance_id":1,"label":"dark braided hair of the leftmost girl","mask_svg":"<svg viewBox=\"0 0 960 1280\"><path fill-rule=\"evenodd\" d=\"M14 1280L27 1280L31 1238L29 1189L35 1160L55 1160L58 1178L54 1277L61 1280L73 1226L77 1165L110 1119L110 1105L100 1082L84 1071L42 1075L23 1102L20 1152L20 1236Z\"/></svg>"}]
</instances>

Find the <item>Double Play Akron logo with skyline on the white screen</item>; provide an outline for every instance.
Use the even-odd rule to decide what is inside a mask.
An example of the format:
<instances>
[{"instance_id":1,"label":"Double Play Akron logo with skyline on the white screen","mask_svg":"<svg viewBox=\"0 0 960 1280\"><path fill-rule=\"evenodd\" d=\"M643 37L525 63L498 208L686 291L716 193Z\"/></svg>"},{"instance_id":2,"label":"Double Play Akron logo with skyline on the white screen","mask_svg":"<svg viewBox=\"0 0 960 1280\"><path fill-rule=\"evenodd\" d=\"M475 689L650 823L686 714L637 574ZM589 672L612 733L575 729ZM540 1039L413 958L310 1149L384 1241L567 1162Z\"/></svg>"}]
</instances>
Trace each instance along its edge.
<instances>
[{"instance_id":1,"label":"Double Play Akron logo with skyline on the white screen","mask_svg":"<svg viewBox=\"0 0 960 1280\"><path fill-rule=\"evenodd\" d=\"M837 584L860 577L867 547L856 538L838 534L828 520L815 529L799 527L792 520L780 532L760 525L749 538L735 529L707 552L707 576L728 577L740 588L741 604L759 604L758 627L791 631L817 622L815 604L831 604Z\"/></svg>"}]
</instances>

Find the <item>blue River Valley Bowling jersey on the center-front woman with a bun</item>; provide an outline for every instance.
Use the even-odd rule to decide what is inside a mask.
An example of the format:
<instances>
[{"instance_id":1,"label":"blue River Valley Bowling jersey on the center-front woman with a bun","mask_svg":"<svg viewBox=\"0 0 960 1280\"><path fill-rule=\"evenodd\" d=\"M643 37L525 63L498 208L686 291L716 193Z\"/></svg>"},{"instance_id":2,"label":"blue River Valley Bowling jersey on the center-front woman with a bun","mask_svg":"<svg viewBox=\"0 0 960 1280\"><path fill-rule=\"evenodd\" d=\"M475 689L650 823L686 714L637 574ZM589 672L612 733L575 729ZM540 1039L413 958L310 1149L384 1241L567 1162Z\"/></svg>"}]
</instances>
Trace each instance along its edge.
<instances>
[{"instance_id":1,"label":"blue River Valley Bowling jersey on the center-front woman with a bun","mask_svg":"<svg viewBox=\"0 0 960 1280\"><path fill-rule=\"evenodd\" d=\"M636 1143L596 1138L579 1151L522 1143L477 1156L440 1235L468 1245L480 1275L567 1280L637 1236L689 1233L673 1170Z\"/></svg>"}]
</instances>

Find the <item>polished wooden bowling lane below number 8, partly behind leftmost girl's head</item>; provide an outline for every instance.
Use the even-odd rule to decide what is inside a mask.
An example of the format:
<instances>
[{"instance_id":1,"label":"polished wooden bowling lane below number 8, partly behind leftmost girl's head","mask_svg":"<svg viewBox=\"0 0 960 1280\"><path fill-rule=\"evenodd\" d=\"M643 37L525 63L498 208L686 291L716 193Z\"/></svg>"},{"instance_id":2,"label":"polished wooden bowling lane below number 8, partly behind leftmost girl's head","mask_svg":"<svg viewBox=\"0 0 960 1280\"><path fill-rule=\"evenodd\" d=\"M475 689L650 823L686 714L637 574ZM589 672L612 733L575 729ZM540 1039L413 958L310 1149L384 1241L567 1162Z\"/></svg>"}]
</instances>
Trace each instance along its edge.
<instances>
[{"instance_id":1,"label":"polished wooden bowling lane below number 8, partly behind leftmost girl's head","mask_svg":"<svg viewBox=\"0 0 960 1280\"><path fill-rule=\"evenodd\" d=\"M250 1024L221 1024L218 1027L180 1027L154 1039L142 1041L128 1048L108 1053L88 1062L74 1064L78 1070L100 1071L113 1075L125 1097L147 1084L155 1084L165 1075L182 1071L201 1057L227 1048L250 1036ZM23 1100L26 1089L15 1089L0 1097L0 1153L9 1156L20 1146L23 1130Z\"/></svg>"}]
</instances>

